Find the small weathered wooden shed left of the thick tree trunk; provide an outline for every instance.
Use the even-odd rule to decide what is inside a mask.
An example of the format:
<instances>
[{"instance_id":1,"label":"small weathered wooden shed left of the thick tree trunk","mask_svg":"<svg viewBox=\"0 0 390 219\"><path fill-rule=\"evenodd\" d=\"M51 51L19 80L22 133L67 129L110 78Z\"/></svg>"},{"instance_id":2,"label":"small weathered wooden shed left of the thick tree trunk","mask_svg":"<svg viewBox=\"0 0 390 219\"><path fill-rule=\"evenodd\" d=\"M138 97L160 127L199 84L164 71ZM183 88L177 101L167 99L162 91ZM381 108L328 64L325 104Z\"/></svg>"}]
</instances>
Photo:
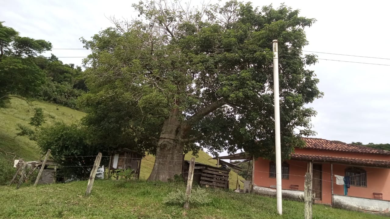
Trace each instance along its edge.
<instances>
[{"instance_id":1,"label":"small weathered wooden shed left of the thick tree trunk","mask_svg":"<svg viewBox=\"0 0 390 219\"><path fill-rule=\"evenodd\" d=\"M143 154L128 148L116 150L110 154L108 173L118 169L131 169L134 171L133 177L139 179L142 157L144 157Z\"/></svg>"}]
</instances>

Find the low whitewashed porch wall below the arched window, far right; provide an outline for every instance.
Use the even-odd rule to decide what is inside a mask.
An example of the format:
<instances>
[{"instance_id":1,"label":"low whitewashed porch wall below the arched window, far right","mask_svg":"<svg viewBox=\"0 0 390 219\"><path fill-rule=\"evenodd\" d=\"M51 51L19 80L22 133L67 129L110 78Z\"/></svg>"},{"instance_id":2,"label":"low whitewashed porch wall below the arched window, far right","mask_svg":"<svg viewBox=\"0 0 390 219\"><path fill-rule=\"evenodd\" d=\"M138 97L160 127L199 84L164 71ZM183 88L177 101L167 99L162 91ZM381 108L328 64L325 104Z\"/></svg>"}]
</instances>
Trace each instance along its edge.
<instances>
[{"instance_id":1,"label":"low whitewashed porch wall below the arched window, far right","mask_svg":"<svg viewBox=\"0 0 390 219\"><path fill-rule=\"evenodd\" d=\"M388 213L390 201L333 195L334 206L370 212Z\"/></svg>"}]
</instances>

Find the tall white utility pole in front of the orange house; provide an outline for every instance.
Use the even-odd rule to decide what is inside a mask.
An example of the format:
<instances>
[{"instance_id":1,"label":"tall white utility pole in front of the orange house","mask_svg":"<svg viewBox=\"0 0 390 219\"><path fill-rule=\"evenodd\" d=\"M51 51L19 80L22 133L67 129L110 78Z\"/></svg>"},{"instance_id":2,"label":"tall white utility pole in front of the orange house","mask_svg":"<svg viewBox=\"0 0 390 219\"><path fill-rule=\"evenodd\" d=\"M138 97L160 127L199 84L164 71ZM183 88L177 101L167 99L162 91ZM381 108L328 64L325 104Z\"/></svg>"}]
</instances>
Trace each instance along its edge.
<instances>
[{"instance_id":1,"label":"tall white utility pole in front of the orange house","mask_svg":"<svg viewBox=\"0 0 390 219\"><path fill-rule=\"evenodd\" d=\"M273 97L275 104L275 154L276 154L276 204L282 215L282 160L280 158L280 112L279 112L279 60L278 40L272 41L273 51Z\"/></svg>"}]
</instances>

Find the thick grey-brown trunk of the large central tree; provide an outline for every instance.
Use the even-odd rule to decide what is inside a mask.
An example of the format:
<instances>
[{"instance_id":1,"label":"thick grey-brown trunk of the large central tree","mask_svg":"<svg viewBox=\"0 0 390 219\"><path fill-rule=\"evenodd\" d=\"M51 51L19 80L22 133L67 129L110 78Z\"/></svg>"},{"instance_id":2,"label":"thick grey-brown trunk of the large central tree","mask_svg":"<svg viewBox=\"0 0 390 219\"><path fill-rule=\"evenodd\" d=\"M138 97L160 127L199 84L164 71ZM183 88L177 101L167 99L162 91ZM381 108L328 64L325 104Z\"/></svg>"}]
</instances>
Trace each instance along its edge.
<instances>
[{"instance_id":1,"label":"thick grey-brown trunk of the large central tree","mask_svg":"<svg viewBox=\"0 0 390 219\"><path fill-rule=\"evenodd\" d=\"M181 174L183 165L181 137L183 132L181 130L182 123L179 120L180 114L178 109L173 109L171 116L164 121L149 181L167 182L168 179L173 179L174 175Z\"/></svg>"}]
</instances>

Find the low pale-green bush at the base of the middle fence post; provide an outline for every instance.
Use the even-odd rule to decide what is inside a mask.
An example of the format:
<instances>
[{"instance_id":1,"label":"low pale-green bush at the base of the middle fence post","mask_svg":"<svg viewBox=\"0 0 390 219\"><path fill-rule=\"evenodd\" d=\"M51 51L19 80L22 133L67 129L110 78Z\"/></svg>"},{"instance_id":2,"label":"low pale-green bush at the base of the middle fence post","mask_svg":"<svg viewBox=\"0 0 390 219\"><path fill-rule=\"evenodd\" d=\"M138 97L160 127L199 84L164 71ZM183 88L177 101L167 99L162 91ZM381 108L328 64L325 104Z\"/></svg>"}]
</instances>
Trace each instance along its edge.
<instances>
[{"instance_id":1,"label":"low pale-green bush at the base of the middle fence post","mask_svg":"<svg viewBox=\"0 0 390 219\"><path fill-rule=\"evenodd\" d=\"M176 191L168 193L163 203L168 205L183 205L184 202L189 201L190 205L200 206L211 202L210 194L206 189L193 188L191 195L188 197L185 191L176 189Z\"/></svg>"}]
</instances>

